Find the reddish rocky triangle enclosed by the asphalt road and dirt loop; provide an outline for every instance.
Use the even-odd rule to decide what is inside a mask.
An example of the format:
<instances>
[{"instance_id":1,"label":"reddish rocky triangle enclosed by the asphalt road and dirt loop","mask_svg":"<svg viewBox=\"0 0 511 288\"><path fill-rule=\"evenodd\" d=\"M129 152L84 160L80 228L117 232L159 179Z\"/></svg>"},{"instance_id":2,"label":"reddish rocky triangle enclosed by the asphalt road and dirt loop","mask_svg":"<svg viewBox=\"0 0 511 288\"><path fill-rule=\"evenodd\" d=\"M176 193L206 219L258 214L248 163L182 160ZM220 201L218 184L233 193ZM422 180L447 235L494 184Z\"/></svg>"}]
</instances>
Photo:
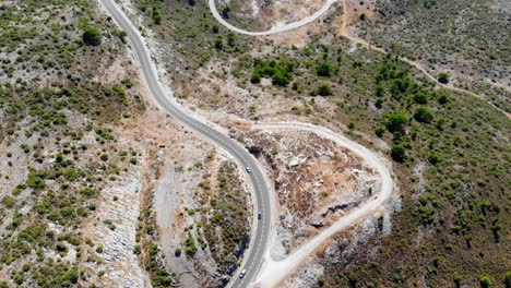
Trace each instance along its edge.
<instances>
[{"instance_id":1,"label":"reddish rocky triangle enclosed by the asphalt road and dirt loop","mask_svg":"<svg viewBox=\"0 0 511 288\"><path fill-rule=\"evenodd\" d=\"M378 175L364 160L317 134L255 130L237 136L262 149L259 159L274 181L287 253L379 189Z\"/></svg>"}]
</instances>

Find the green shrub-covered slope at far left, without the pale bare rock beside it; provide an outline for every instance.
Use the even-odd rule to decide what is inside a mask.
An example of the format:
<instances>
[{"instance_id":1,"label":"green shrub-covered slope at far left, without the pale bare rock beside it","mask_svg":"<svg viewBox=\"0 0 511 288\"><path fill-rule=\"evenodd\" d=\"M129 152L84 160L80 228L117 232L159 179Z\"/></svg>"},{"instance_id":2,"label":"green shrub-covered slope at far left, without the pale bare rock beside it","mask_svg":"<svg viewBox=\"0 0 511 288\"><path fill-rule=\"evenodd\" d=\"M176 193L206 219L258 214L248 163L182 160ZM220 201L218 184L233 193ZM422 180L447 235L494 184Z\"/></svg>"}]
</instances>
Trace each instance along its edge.
<instances>
[{"instance_id":1,"label":"green shrub-covered slope at far left, without the pale bare rock beside it","mask_svg":"<svg viewBox=\"0 0 511 288\"><path fill-rule=\"evenodd\" d=\"M7 2L0 19L0 286L88 286L103 245L82 229L127 166L98 155L128 148L112 128L141 111L131 91L97 81L124 44L87 1Z\"/></svg>"}]
</instances>

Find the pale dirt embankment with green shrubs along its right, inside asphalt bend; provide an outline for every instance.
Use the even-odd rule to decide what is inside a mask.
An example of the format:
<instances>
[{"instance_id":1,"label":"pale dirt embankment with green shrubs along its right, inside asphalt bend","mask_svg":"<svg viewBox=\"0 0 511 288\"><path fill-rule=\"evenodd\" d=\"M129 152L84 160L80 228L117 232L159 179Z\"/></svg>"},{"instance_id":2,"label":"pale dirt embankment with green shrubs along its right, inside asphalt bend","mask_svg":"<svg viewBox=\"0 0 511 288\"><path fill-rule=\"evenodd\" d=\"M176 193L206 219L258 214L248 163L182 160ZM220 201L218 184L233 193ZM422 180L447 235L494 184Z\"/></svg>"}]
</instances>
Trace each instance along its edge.
<instances>
[{"instance_id":1,"label":"pale dirt embankment with green shrubs along its right, inside asphalt bend","mask_svg":"<svg viewBox=\"0 0 511 288\"><path fill-rule=\"evenodd\" d=\"M226 285L250 231L241 168L188 131L174 133L161 152L153 207L165 262L182 286Z\"/></svg>"}]
</instances>

